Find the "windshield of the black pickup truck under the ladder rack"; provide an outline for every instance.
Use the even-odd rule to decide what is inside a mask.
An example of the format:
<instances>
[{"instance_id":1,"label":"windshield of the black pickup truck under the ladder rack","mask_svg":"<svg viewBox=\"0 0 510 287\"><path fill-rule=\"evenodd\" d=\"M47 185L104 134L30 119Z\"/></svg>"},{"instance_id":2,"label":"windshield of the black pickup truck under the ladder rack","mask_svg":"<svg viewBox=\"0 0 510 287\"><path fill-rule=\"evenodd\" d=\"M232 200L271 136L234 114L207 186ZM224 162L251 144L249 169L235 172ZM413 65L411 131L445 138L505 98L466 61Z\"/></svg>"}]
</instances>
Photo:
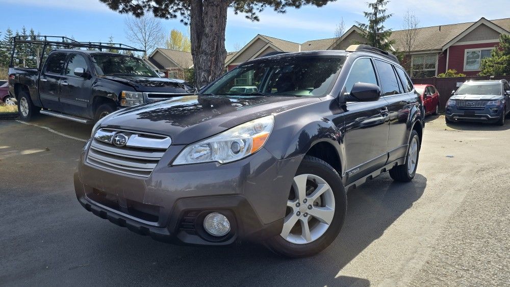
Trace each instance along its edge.
<instances>
[{"instance_id":1,"label":"windshield of the black pickup truck under the ladder rack","mask_svg":"<svg viewBox=\"0 0 510 287\"><path fill-rule=\"evenodd\" d=\"M129 56L94 55L92 56L95 70L99 75L133 75L159 77L142 60Z\"/></svg>"}]
</instances>

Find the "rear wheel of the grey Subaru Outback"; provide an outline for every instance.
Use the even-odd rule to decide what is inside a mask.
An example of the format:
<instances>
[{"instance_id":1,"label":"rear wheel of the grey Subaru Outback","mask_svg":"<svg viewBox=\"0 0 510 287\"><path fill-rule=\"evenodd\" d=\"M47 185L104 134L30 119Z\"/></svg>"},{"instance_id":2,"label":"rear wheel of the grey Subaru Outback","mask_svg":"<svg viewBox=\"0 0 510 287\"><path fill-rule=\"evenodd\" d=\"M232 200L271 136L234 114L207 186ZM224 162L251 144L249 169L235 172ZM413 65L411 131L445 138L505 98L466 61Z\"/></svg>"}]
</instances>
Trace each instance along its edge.
<instances>
[{"instance_id":1,"label":"rear wheel of the grey Subaru Outback","mask_svg":"<svg viewBox=\"0 0 510 287\"><path fill-rule=\"evenodd\" d=\"M418 158L420 154L420 137L413 129L411 139L407 147L407 155L405 156L405 164L396 166L390 170L390 176L396 181L411 181L416 175L418 167Z\"/></svg>"}]
</instances>

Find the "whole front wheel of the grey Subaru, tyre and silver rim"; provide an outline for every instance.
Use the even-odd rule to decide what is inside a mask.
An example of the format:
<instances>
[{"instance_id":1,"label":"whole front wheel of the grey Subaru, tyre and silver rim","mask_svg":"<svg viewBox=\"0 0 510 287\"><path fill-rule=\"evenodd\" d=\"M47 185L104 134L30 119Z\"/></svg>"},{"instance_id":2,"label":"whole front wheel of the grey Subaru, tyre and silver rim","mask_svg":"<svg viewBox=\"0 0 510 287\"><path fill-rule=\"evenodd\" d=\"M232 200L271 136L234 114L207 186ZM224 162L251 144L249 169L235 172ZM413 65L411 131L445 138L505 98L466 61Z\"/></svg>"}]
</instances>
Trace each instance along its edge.
<instances>
[{"instance_id":1,"label":"whole front wheel of the grey Subaru, tyre and silver rim","mask_svg":"<svg viewBox=\"0 0 510 287\"><path fill-rule=\"evenodd\" d=\"M305 156L286 208L281 234L267 240L266 245L287 257L319 253L335 240L344 222L347 197L342 179L326 162Z\"/></svg>"}]
</instances>

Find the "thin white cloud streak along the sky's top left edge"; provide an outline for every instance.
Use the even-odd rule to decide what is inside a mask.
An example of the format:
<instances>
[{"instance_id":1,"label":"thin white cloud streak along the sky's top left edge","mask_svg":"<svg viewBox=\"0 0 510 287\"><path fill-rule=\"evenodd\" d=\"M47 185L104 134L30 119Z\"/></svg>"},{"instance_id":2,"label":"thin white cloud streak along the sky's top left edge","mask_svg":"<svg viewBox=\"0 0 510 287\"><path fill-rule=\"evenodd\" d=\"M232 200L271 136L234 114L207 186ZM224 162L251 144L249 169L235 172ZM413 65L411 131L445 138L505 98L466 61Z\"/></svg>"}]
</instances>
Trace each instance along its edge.
<instances>
[{"instance_id":1,"label":"thin white cloud streak along the sky's top left edge","mask_svg":"<svg viewBox=\"0 0 510 287\"><path fill-rule=\"evenodd\" d=\"M24 5L31 7L73 9L95 12L113 12L99 0L0 0L7 5Z\"/></svg>"}]
</instances>

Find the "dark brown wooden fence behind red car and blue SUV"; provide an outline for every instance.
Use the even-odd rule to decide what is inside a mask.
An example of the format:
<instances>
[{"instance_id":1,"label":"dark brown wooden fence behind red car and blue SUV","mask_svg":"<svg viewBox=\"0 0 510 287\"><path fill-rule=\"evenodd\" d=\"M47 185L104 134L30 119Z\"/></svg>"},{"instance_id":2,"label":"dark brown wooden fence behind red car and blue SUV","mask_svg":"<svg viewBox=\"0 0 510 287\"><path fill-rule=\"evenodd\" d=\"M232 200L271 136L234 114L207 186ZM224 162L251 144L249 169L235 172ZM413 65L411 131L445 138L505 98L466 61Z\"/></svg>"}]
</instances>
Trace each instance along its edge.
<instances>
[{"instance_id":1,"label":"dark brown wooden fence behind red car and blue SUV","mask_svg":"<svg viewBox=\"0 0 510 287\"><path fill-rule=\"evenodd\" d=\"M433 85L438 89L439 92L439 109L444 111L446 101L451 96L451 91L457 90L457 88L468 80L489 80L488 76L471 76L471 77L428 77L428 78L417 78L413 79L413 84L427 84ZM506 79L510 81L510 76L495 76L494 80Z\"/></svg>"}]
</instances>

